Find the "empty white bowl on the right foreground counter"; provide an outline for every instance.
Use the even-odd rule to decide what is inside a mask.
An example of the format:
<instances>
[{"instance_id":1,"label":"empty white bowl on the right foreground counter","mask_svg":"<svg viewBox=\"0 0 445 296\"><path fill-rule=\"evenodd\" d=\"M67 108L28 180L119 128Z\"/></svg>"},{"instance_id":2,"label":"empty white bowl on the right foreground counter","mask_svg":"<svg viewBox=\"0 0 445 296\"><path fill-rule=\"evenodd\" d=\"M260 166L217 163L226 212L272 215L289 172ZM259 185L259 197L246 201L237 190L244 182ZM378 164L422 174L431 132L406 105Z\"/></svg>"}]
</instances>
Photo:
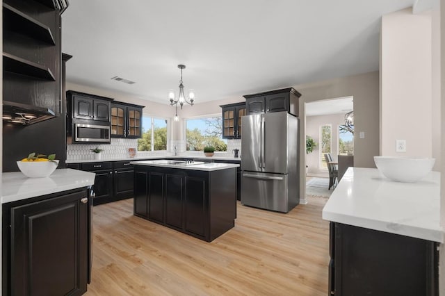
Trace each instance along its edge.
<instances>
[{"instance_id":1,"label":"empty white bowl on the right foreground counter","mask_svg":"<svg viewBox=\"0 0 445 296\"><path fill-rule=\"evenodd\" d=\"M374 156L378 170L398 182L419 181L431 171L435 161L435 158Z\"/></svg>"}]
</instances>

